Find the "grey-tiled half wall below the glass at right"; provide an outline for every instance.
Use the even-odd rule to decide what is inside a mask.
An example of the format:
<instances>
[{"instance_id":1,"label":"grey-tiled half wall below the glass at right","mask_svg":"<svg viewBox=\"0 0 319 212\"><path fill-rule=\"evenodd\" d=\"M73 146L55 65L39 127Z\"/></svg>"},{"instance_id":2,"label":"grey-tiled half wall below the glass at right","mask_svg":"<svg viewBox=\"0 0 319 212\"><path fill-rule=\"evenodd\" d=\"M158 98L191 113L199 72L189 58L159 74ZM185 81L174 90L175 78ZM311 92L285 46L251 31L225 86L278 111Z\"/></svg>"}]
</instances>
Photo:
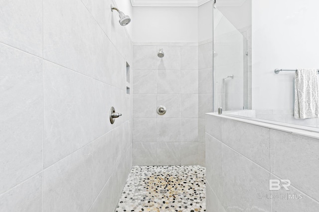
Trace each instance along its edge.
<instances>
[{"instance_id":1,"label":"grey-tiled half wall below the glass at right","mask_svg":"<svg viewBox=\"0 0 319 212\"><path fill-rule=\"evenodd\" d=\"M207 211L319 211L318 133L206 116ZM289 191L270 191L270 179L290 180Z\"/></svg>"}]
</instances>

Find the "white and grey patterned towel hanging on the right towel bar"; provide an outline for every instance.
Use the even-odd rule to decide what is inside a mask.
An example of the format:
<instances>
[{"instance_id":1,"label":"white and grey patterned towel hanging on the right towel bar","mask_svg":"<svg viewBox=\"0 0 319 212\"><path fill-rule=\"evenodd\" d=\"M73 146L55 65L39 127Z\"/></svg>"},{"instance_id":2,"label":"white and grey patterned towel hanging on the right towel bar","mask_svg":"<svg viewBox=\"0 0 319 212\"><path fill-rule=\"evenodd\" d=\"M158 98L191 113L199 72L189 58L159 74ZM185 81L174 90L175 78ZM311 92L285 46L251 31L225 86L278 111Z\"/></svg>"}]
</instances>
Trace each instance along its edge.
<instances>
[{"instance_id":1,"label":"white and grey patterned towel hanging on the right towel bar","mask_svg":"<svg viewBox=\"0 0 319 212\"><path fill-rule=\"evenodd\" d=\"M295 74L295 119L319 117L318 71L301 69Z\"/></svg>"}]
</instances>

